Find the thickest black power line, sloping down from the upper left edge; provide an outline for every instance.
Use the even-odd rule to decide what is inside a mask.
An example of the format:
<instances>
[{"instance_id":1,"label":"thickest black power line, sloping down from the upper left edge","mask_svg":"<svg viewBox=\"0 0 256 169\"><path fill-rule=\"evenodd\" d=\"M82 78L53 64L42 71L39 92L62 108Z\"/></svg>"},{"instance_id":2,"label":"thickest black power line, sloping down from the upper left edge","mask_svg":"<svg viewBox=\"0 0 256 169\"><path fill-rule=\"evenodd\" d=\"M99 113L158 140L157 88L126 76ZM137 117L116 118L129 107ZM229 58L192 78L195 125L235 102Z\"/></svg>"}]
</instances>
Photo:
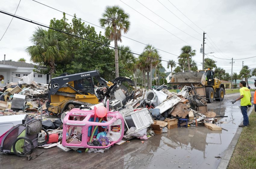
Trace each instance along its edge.
<instances>
[{"instance_id":1,"label":"thickest black power line, sloping down from the upper left edge","mask_svg":"<svg viewBox=\"0 0 256 169\"><path fill-rule=\"evenodd\" d=\"M58 29L55 29L55 28L52 28L52 27L49 27L49 26L45 26L45 25L43 25L43 24L36 23L35 21L32 21L32 20L27 19L27 18L21 18L21 17L15 16L15 15L13 15L13 14L10 14L10 13L5 12L5 11L2 11L2 10L0 10L0 13L3 13L3 14L6 14L6 15L9 15L9 16L18 18L18 19L23 20L23 21L30 22L30 23L32 23L32 24L36 24L36 25L39 25L39 26L42 26L42 27L46 27L46 28L48 28L48 29L52 29L52 30L55 30L55 31L58 31L58 32L61 32L61 33L65 33L65 34L70 35L70 36L73 36L73 37L77 37L77 38L80 38L80 39L83 39L83 40L87 40L87 41L90 41L90 42L93 42L93 43L97 43L97 44L100 44L100 45L102 45L102 46L110 47L110 48L113 48L113 49L118 49L118 50L121 50L121 51L124 51L124 52L127 52L127 53L132 53L132 54L135 54L135 55L139 55L139 56L143 56L143 57L147 57L147 58L151 58L151 59L155 59L155 60L160 60L160 61L164 61L164 62L169 62L169 61L167 61L167 60L156 59L156 58L152 58L152 57L149 57L149 56L140 55L140 54L133 53L133 52L130 52L130 51L126 51L126 50L123 50L123 49L115 48L115 47L112 47L112 46L109 46L109 45L106 45L106 44L103 44L103 43L100 43L100 42L96 42L96 41L94 41L94 40L89 40L89 39L86 39L86 38L83 38L83 37L79 37L79 36L77 36L77 35L73 35L73 34L71 34L71 33L67 33L67 32L64 32L64 31L62 31L62 30L58 30ZM177 62L173 62L173 63L177 63ZM177 63L177 64L187 65L187 64L185 64L185 63Z\"/></svg>"}]
</instances>

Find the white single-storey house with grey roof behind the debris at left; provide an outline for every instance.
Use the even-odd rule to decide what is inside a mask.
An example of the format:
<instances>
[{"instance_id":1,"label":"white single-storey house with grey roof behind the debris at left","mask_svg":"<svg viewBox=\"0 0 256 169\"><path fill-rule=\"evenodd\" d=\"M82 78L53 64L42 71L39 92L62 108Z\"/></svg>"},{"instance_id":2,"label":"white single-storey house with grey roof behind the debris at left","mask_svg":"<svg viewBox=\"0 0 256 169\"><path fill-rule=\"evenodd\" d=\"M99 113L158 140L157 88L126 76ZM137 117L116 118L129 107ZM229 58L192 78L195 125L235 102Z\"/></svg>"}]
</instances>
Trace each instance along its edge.
<instances>
[{"instance_id":1,"label":"white single-storey house with grey roof behind the debris at left","mask_svg":"<svg viewBox=\"0 0 256 169\"><path fill-rule=\"evenodd\" d=\"M27 76L31 72L33 72L33 69L35 69L34 66L37 66L40 69L46 69L46 67L44 66L33 65L31 63L26 63L26 62L1 61L0 62L0 78L3 77L4 81L0 82L0 86L5 86L6 83L19 81L19 78L15 78L13 76L17 76L17 77ZM43 74L34 72L34 81L43 83L43 84L48 84L49 75L43 75Z\"/></svg>"}]
</instances>

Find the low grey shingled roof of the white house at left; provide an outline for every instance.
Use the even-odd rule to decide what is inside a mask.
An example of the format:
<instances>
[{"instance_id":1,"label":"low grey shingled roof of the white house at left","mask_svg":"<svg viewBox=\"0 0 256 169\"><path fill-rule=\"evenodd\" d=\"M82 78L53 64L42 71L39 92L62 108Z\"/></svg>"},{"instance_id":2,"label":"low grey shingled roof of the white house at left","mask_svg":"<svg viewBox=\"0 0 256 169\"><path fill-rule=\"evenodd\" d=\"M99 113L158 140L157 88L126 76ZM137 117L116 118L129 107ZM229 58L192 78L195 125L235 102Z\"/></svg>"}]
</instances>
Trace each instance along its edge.
<instances>
[{"instance_id":1,"label":"low grey shingled roof of the white house at left","mask_svg":"<svg viewBox=\"0 0 256 169\"><path fill-rule=\"evenodd\" d=\"M32 63L26 63L26 62L3 61L3 60L0 62L0 68L18 68L18 67L34 68L34 66L37 66L38 68L46 68L45 66L34 65Z\"/></svg>"}]
</instances>

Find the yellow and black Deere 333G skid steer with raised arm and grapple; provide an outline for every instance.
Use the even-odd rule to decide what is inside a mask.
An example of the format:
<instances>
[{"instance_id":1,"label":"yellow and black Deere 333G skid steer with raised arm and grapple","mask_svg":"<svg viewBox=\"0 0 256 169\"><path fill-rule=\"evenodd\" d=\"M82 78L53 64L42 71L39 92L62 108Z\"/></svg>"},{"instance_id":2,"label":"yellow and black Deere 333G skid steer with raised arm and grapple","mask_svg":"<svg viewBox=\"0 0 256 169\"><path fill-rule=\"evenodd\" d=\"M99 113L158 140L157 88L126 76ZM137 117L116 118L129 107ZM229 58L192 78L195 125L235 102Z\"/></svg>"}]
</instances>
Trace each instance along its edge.
<instances>
[{"instance_id":1,"label":"yellow and black Deere 333G skid steer with raised arm and grapple","mask_svg":"<svg viewBox=\"0 0 256 169\"><path fill-rule=\"evenodd\" d=\"M100 94L95 94L93 78L104 88ZM134 85L131 79L125 77L115 78L111 82L106 81L100 77L97 70L72 75L64 73L52 78L48 85L48 111L61 114L64 110L78 108L81 105L90 107L92 104L98 104L99 99L111 97L123 82Z\"/></svg>"}]
</instances>

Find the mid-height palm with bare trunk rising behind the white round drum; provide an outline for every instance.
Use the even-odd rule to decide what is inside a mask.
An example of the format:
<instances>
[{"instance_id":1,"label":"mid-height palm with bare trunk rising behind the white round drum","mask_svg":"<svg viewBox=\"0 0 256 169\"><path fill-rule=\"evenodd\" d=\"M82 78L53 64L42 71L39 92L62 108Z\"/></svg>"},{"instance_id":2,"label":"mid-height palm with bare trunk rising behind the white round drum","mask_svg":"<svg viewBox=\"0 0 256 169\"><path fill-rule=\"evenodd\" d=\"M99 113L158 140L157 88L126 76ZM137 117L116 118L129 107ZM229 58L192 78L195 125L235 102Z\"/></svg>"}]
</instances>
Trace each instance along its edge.
<instances>
[{"instance_id":1,"label":"mid-height palm with bare trunk rising behind the white round drum","mask_svg":"<svg viewBox=\"0 0 256 169\"><path fill-rule=\"evenodd\" d=\"M153 64L155 65L156 61L159 58L158 51L157 49L154 48L152 45L147 45L143 51L143 55L147 56L144 57L143 60L149 64L149 69L150 69L150 79L149 79L149 87L148 89L151 89L152 87L152 69L153 69Z\"/></svg>"}]
</instances>

